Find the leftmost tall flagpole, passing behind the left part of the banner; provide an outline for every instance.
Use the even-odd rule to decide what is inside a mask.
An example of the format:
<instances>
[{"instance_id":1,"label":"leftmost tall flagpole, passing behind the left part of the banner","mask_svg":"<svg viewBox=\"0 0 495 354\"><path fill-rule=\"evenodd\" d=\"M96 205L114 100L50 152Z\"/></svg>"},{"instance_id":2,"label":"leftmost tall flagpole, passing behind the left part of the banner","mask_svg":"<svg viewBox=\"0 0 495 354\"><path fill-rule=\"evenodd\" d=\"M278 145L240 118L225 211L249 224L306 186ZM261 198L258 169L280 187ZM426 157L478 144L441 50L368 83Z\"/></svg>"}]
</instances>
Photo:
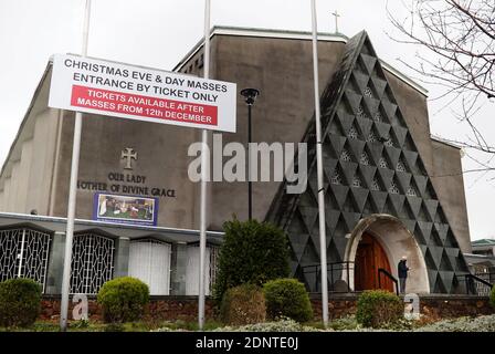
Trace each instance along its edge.
<instances>
[{"instance_id":1,"label":"leftmost tall flagpole, passing behind the left part of the banner","mask_svg":"<svg viewBox=\"0 0 495 354\"><path fill-rule=\"evenodd\" d=\"M82 45L83 56L87 55L89 14L91 14L91 0L86 0L86 9L84 14L84 27L83 27L83 45ZM62 301L60 309L60 327L62 331L65 331L67 329L69 291L71 285L72 241L74 238L77 174L78 174L80 149L81 149L81 131L83 125L82 117L83 114L81 112L75 113L74 142L72 146L72 163L71 163L71 183L69 187L67 229L65 232L64 271L62 279Z\"/></svg>"}]
</instances>

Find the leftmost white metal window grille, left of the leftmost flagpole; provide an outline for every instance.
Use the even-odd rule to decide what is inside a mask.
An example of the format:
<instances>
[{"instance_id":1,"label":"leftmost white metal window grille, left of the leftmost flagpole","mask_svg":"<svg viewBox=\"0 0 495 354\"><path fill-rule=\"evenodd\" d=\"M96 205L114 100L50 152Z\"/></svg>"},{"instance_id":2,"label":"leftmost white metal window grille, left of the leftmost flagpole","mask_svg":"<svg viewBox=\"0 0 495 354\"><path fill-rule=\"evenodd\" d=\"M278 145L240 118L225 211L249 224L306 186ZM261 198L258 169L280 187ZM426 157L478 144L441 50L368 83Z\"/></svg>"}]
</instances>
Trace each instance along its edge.
<instances>
[{"instance_id":1,"label":"leftmost white metal window grille, left of the leftmost flagpole","mask_svg":"<svg viewBox=\"0 0 495 354\"><path fill-rule=\"evenodd\" d=\"M44 291L50 241L50 233L38 230L0 230L0 281L29 278Z\"/></svg>"}]
</instances>

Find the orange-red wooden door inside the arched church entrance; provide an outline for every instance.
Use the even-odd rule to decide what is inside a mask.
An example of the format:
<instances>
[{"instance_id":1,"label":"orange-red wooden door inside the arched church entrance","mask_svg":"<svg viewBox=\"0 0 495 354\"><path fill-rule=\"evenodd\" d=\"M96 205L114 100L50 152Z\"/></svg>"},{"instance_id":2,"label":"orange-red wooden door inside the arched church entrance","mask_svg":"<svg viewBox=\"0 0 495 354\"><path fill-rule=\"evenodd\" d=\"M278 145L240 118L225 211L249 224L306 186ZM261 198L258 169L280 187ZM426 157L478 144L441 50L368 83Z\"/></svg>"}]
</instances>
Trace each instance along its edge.
<instances>
[{"instance_id":1,"label":"orange-red wooden door inside the arched church entrance","mask_svg":"<svg viewBox=\"0 0 495 354\"><path fill-rule=\"evenodd\" d=\"M355 290L383 289L393 292L392 281L378 270L392 274L390 262L379 241L369 232L364 232L355 259Z\"/></svg>"}]
</instances>

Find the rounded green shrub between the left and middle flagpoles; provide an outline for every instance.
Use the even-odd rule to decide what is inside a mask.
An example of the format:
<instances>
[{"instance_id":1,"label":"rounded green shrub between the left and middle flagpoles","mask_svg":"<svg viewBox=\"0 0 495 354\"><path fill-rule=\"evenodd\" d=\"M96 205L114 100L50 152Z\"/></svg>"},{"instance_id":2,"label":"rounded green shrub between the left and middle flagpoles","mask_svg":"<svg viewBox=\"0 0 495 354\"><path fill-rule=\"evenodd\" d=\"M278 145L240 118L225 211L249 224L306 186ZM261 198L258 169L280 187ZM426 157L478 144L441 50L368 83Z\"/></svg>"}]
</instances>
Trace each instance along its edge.
<instances>
[{"instance_id":1,"label":"rounded green shrub between the left and middle flagpoles","mask_svg":"<svg viewBox=\"0 0 495 354\"><path fill-rule=\"evenodd\" d=\"M116 278L103 284L97 301L103 308L105 322L136 321L143 316L149 302L149 289L136 278Z\"/></svg>"}]
</instances>

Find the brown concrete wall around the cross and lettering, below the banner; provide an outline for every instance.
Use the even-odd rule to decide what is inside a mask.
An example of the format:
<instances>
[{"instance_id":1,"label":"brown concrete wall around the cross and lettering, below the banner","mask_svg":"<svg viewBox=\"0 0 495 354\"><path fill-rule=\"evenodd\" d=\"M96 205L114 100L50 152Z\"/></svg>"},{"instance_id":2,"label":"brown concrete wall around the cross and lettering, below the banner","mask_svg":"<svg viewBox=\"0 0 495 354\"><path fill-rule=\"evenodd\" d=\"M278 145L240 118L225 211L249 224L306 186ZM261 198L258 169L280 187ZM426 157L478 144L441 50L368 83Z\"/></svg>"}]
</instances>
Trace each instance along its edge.
<instances>
[{"instance_id":1,"label":"brown concrete wall around the cross and lettering, below the banner","mask_svg":"<svg viewBox=\"0 0 495 354\"><path fill-rule=\"evenodd\" d=\"M65 216L69 179L71 173L72 137L74 114L65 113L59 155L57 178L53 216ZM177 228L193 227L192 206L194 184L187 175L189 144L196 132L183 127L151 123L130 122L96 115L83 116L83 134L80 157L78 180L115 184L110 173L146 176L145 184L117 183L126 186L146 186L175 189L176 198L159 198L158 222ZM126 170L120 153L126 147L138 154L135 168ZM94 190L77 191L76 217L91 219Z\"/></svg>"}]
</instances>

